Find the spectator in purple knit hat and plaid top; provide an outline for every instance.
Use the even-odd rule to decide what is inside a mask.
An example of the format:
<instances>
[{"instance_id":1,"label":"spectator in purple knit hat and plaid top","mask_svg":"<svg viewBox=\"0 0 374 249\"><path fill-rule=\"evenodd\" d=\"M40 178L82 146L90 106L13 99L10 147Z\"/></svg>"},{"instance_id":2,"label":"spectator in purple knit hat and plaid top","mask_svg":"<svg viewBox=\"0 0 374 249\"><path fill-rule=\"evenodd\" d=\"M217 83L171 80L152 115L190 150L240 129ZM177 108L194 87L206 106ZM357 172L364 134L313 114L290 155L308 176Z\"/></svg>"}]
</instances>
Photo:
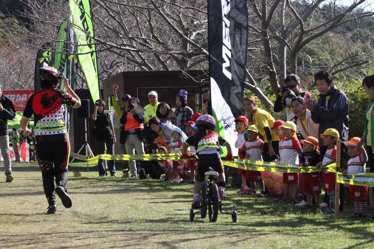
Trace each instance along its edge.
<instances>
[{"instance_id":1,"label":"spectator in purple knit hat and plaid top","mask_svg":"<svg viewBox=\"0 0 374 249\"><path fill-rule=\"evenodd\" d=\"M174 112L174 122L175 125L181 129L183 132L184 124L187 121L191 121L191 116L194 114L191 108L187 106L187 91L180 90L176 96L177 109Z\"/></svg>"}]
</instances>

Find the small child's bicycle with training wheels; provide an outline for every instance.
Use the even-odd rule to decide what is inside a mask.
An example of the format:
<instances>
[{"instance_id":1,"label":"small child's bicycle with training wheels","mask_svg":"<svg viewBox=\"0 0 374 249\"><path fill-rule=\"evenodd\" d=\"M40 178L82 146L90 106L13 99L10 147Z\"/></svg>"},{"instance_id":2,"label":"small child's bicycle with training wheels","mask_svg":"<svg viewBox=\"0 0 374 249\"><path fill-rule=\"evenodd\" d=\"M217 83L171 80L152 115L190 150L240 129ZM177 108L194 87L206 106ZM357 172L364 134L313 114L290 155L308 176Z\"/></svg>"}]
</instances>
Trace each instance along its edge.
<instances>
[{"instance_id":1,"label":"small child's bicycle with training wheels","mask_svg":"<svg viewBox=\"0 0 374 249\"><path fill-rule=\"evenodd\" d=\"M216 179L218 177L218 172L216 171L207 171L205 172L204 181L201 183L201 203L200 209L195 212L194 209L190 209L190 220L194 221L195 214L200 213L202 219L206 217L208 213L209 221L216 222L218 217L218 210L222 214L231 215L233 222L236 222L237 212L229 213L225 210L222 205L222 200L219 198L218 186L216 184Z\"/></svg>"}]
</instances>

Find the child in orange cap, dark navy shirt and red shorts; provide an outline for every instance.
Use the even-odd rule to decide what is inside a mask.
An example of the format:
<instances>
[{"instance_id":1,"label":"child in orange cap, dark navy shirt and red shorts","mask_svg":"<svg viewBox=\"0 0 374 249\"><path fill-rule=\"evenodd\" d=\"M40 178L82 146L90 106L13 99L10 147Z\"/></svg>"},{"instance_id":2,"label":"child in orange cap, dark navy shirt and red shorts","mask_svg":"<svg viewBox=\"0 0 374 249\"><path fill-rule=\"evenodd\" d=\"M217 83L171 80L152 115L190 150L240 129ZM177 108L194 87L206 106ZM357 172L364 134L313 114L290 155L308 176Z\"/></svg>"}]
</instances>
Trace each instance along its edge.
<instances>
[{"instance_id":1,"label":"child in orange cap, dark navy shirt and red shorts","mask_svg":"<svg viewBox=\"0 0 374 249\"><path fill-rule=\"evenodd\" d=\"M300 167L316 166L320 162L318 150L318 139L312 136L300 140L304 144L304 152L301 154ZM306 193L306 202L303 210L316 210L321 212L321 176L319 172L303 173L303 192ZM312 198L315 198L316 205L313 205Z\"/></svg>"}]
</instances>

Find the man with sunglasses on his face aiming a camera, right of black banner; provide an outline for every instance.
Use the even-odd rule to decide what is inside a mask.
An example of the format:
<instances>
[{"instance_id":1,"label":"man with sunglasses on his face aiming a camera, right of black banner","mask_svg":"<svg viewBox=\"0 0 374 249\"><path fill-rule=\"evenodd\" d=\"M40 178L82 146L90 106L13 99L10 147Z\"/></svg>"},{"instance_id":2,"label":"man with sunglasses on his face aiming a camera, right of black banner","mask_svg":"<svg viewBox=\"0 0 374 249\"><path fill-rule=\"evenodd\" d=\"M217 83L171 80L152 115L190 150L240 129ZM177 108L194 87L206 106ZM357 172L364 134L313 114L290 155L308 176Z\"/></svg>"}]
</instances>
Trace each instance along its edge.
<instances>
[{"instance_id":1,"label":"man with sunglasses on his face aiming a camera, right of black banner","mask_svg":"<svg viewBox=\"0 0 374 249\"><path fill-rule=\"evenodd\" d=\"M296 74L288 74L284 79L284 86L278 89L279 93L274 102L274 111L281 112L286 109L287 121L295 122L295 115L291 109L291 101L294 97L302 97L305 100L311 99L308 91L300 88L300 77Z\"/></svg>"}]
</instances>

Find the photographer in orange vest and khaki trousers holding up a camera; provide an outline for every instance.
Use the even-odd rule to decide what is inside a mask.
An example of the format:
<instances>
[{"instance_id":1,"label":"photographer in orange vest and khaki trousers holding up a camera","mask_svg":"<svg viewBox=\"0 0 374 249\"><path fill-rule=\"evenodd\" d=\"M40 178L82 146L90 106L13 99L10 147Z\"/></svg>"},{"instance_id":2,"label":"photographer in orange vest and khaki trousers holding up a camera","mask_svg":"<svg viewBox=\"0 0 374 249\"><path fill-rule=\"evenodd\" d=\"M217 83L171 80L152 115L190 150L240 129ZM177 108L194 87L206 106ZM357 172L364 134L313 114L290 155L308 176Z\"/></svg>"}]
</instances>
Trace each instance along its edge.
<instances>
[{"instance_id":1,"label":"photographer in orange vest and khaki trousers holding up a camera","mask_svg":"<svg viewBox=\"0 0 374 249\"><path fill-rule=\"evenodd\" d=\"M135 150L138 155L144 154L143 142L140 139L140 132L144 128L145 114L137 114L136 108L139 105L139 99L133 97L130 99L130 104L124 107L124 112L119 120L124 124L124 145L129 155L135 155ZM129 161L129 168L131 178L137 178L137 169L135 160Z\"/></svg>"}]
</instances>

